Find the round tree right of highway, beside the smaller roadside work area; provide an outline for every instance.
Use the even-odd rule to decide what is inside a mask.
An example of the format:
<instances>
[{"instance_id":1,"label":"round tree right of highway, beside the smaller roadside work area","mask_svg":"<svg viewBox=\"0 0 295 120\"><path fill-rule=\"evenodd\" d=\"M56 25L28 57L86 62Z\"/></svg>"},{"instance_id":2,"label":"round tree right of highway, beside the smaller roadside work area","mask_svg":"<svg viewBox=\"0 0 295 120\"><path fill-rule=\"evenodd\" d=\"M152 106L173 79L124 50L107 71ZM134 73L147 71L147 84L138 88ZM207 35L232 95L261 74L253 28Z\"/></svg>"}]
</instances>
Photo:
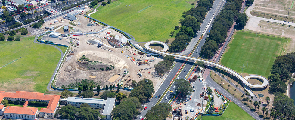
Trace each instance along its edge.
<instances>
[{"instance_id":1,"label":"round tree right of highway, beside the smaller roadside work area","mask_svg":"<svg viewBox=\"0 0 295 120\"><path fill-rule=\"evenodd\" d=\"M176 86L175 91L180 92L180 97L186 97L188 93L193 92L190 82L185 79L176 79L174 83Z\"/></svg>"}]
</instances>

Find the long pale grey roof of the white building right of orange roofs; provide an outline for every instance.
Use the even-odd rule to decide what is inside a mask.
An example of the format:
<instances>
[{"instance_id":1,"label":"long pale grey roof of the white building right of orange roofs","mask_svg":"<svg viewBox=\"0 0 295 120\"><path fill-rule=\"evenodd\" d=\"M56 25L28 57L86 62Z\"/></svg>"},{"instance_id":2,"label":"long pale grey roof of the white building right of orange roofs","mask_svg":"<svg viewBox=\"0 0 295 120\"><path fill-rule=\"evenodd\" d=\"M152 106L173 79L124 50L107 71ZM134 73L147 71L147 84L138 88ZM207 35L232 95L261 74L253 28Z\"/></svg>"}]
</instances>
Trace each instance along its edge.
<instances>
[{"instance_id":1,"label":"long pale grey roof of the white building right of orange roofs","mask_svg":"<svg viewBox=\"0 0 295 120\"><path fill-rule=\"evenodd\" d=\"M81 103L98 103L104 104L104 99L96 99L96 98L76 98L76 97L68 97L67 102L81 102Z\"/></svg>"}]
</instances>

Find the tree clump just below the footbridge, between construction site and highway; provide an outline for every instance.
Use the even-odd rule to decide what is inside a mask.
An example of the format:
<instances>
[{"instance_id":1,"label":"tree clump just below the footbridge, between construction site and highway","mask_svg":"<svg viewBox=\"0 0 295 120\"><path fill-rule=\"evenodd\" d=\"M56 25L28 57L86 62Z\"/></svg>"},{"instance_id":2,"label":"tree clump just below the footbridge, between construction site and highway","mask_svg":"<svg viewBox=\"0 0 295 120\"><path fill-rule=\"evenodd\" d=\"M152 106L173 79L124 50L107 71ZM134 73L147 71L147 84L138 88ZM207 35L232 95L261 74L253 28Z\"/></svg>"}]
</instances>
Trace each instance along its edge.
<instances>
[{"instance_id":1,"label":"tree clump just below the footbridge, between construction site and highway","mask_svg":"<svg viewBox=\"0 0 295 120\"><path fill-rule=\"evenodd\" d=\"M163 58L164 61L158 62L154 65L156 73L158 73L160 76L164 73L168 72L171 68L171 65L174 62L174 56L167 55Z\"/></svg>"}]
</instances>

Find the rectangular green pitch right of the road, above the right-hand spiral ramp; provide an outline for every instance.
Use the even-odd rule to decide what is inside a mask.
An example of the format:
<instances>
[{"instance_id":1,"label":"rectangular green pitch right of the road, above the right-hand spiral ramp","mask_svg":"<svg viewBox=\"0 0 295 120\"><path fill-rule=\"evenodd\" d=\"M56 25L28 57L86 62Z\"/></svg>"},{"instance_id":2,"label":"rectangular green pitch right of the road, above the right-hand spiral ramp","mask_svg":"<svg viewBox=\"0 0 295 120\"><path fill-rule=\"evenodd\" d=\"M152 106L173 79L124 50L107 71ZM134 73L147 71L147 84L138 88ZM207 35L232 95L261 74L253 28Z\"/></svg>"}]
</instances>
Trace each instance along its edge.
<instances>
[{"instance_id":1,"label":"rectangular green pitch right of the road, above the right-hand spiral ramp","mask_svg":"<svg viewBox=\"0 0 295 120\"><path fill-rule=\"evenodd\" d=\"M270 69L275 57L283 55L287 39L254 33L235 32L233 40L228 44L222 55L221 64L242 73L258 74L265 77L270 75ZM248 64L248 65L247 65Z\"/></svg>"}]
</instances>

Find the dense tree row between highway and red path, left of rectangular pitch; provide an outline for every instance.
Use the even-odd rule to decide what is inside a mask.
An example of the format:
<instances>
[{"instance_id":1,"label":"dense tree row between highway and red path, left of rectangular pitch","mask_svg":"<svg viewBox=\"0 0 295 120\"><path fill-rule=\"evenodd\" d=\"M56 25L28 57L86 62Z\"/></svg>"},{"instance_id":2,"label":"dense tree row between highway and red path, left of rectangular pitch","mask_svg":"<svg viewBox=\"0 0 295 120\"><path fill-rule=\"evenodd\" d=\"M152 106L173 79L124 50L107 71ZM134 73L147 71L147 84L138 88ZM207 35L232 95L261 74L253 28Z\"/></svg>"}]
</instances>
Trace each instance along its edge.
<instances>
[{"instance_id":1,"label":"dense tree row between highway and red path, left of rectangular pitch","mask_svg":"<svg viewBox=\"0 0 295 120\"><path fill-rule=\"evenodd\" d=\"M228 0L222 11L218 13L216 19L212 23L212 29L208 33L208 37L201 47L200 54L203 58L211 58L216 53L218 46L225 42L227 32L231 28L234 21L240 28L246 25L248 17L245 13L240 13L243 0Z\"/></svg>"}]
</instances>

